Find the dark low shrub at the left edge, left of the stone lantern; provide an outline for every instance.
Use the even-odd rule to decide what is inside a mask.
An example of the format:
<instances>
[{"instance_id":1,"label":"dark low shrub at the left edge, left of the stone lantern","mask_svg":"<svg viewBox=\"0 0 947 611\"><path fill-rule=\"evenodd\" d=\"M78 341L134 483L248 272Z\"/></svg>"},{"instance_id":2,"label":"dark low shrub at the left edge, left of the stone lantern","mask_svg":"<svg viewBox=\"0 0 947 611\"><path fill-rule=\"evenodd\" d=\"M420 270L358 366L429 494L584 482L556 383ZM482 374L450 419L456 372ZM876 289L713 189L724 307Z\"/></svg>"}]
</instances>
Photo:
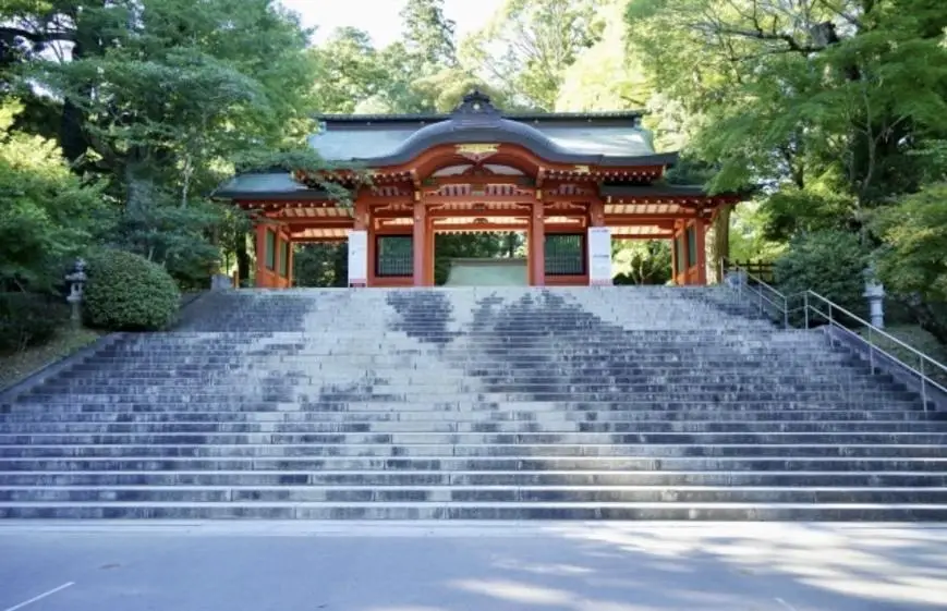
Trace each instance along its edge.
<instances>
[{"instance_id":1,"label":"dark low shrub at the left edge, left of the stone lantern","mask_svg":"<svg viewBox=\"0 0 947 611\"><path fill-rule=\"evenodd\" d=\"M38 293L0 293L0 353L49 342L69 320L69 307Z\"/></svg>"}]
</instances>

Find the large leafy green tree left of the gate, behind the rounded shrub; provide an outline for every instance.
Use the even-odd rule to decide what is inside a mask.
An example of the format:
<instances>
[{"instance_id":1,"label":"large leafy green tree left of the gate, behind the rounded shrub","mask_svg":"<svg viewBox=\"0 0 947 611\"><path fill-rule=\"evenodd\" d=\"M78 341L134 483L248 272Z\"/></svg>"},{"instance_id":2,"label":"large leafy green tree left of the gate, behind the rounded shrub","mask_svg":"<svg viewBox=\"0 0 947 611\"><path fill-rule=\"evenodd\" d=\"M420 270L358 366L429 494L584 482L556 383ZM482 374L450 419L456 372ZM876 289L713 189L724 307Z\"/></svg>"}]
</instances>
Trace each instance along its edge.
<instances>
[{"instance_id":1,"label":"large leafy green tree left of the gate, behind the rounded shrub","mask_svg":"<svg viewBox=\"0 0 947 611\"><path fill-rule=\"evenodd\" d=\"M205 196L228 163L312 131L307 33L275 0L76 4L24 17L38 33L60 24L73 45L71 58L36 58L25 81L62 100L75 167L111 179L122 201L116 241L206 278L221 215Z\"/></svg>"}]
</instances>

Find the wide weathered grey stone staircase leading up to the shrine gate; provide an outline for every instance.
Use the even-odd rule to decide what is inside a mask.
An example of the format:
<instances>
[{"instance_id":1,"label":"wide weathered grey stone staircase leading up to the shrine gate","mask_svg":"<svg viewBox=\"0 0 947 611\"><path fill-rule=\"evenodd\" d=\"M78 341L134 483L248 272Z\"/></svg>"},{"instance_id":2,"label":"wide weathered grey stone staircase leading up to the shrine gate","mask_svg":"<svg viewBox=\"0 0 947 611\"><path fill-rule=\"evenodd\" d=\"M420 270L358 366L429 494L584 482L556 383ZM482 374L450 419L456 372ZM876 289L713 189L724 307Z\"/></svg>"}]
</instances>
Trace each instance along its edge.
<instances>
[{"instance_id":1,"label":"wide weathered grey stone staircase leading up to the shrine gate","mask_svg":"<svg viewBox=\"0 0 947 611\"><path fill-rule=\"evenodd\" d=\"M0 406L0 516L947 518L947 423L727 295L209 294Z\"/></svg>"}]
</instances>

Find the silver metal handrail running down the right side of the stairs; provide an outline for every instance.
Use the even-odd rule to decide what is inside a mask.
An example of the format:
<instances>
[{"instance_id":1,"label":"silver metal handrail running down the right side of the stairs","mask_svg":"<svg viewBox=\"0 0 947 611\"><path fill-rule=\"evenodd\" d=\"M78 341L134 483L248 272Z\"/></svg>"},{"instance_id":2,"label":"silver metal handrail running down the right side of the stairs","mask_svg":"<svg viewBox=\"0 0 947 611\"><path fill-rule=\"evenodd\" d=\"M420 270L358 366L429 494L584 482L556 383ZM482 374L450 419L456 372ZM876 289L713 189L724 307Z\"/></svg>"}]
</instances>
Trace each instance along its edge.
<instances>
[{"instance_id":1,"label":"silver metal handrail running down the right side of the stairs","mask_svg":"<svg viewBox=\"0 0 947 611\"><path fill-rule=\"evenodd\" d=\"M819 295L815 291L802 291L800 293L793 293L791 295L786 295L786 294L781 293L780 291L774 289L773 286L770 286L766 282L764 282L762 279L754 277L753 274L751 274L749 271L741 268L740 266L733 266L731 269L739 270L748 279L753 280L753 282L755 282L760 286L767 289L774 295L776 295L779 301L782 302L782 307L780 308L779 303L777 301L769 300L763 295L762 289L753 290L753 288L751 288L749 284L746 284L744 286L743 282L741 282L738 285L738 292L742 292L743 289L745 288L745 289L750 290L751 293L756 294L756 296L760 300L761 313L763 311L762 304L763 304L764 300L766 302L768 302L769 304L772 304L777 309L779 309L782 313L784 328L789 329L789 315L794 314L801 309L803 311L805 328L809 329L811 327L810 313L815 313L823 320L827 321L830 327L835 327L837 329L842 330L843 332L846 332L849 335L851 335L852 338L854 338L857 341L860 341L862 344L865 344L867 346L869 363L870 363L872 374L874 374L874 371L875 371L875 353L877 352L878 354L886 356L890 361L894 361L895 363L897 363L898 365L903 367L907 371L910 371L911 374L915 375L919 378L919 381L921 384L921 402L924 406L925 412L927 411L927 388L928 388L928 386L933 387L935 389L938 389L940 392L947 394L947 388L945 388L943 384L940 384L936 380L932 379L931 375L930 375L930 374L933 374L933 372L936 372L939 370L945 376L947 376L947 366L945 366L943 363L932 358L931 356L928 356L928 355L924 354L923 352L919 351L918 349L907 344L902 340L899 340L895 335L891 335L890 333L884 331L883 329L876 327L875 325L872 325L871 322L869 322L864 318L862 318L862 317L851 313L850 310L841 307L840 305L828 300L827 297ZM721 269L721 279L723 279L724 271L725 270ZM789 307L790 302L792 300L796 300L799 297L802 297L802 301L803 301L802 307L790 308ZM816 303L822 303L825 306L827 306L828 311L823 313L822 310L819 310L815 305L813 305L813 303L812 303L813 300L816 301ZM867 331L867 339L863 338L859 333L852 331L851 329L849 329L848 327L846 327L845 325L839 322L838 317L835 316L835 313L842 314L842 315L847 316L848 318L850 318L851 320L853 320L854 322L859 323L861 327L863 327ZM919 363L918 368L914 368L914 367L908 365L907 363L904 363L903 361L901 361L900 358L898 358L897 356L895 356L890 352L888 352L882 347L876 346L874 344L874 341L873 341L874 335L878 335L881 338L884 338L884 339L888 340L889 342L893 342L894 344L898 345L899 347L907 350L910 354L912 354L913 356L915 356L918 358L918 363Z\"/></svg>"}]
</instances>

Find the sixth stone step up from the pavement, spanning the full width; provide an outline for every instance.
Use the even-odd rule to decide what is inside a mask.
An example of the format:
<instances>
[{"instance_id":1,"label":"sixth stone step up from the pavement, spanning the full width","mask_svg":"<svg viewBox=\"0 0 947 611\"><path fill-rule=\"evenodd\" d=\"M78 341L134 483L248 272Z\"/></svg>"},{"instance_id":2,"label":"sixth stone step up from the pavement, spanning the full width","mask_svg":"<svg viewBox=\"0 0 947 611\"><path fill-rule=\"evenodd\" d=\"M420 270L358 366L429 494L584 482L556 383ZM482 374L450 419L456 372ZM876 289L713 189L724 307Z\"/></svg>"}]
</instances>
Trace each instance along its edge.
<instances>
[{"instance_id":1,"label":"sixth stone step up from the pavement, spanning the full width","mask_svg":"<svg viewBox=\"0 0 947 611\"><path fill-rule=\"evenodd\" d=\"M239 444L878 444L947 445L947 432L252 432L252 433L0 433L2 445L239 445Z\"/></svg>"}]
</instances>

